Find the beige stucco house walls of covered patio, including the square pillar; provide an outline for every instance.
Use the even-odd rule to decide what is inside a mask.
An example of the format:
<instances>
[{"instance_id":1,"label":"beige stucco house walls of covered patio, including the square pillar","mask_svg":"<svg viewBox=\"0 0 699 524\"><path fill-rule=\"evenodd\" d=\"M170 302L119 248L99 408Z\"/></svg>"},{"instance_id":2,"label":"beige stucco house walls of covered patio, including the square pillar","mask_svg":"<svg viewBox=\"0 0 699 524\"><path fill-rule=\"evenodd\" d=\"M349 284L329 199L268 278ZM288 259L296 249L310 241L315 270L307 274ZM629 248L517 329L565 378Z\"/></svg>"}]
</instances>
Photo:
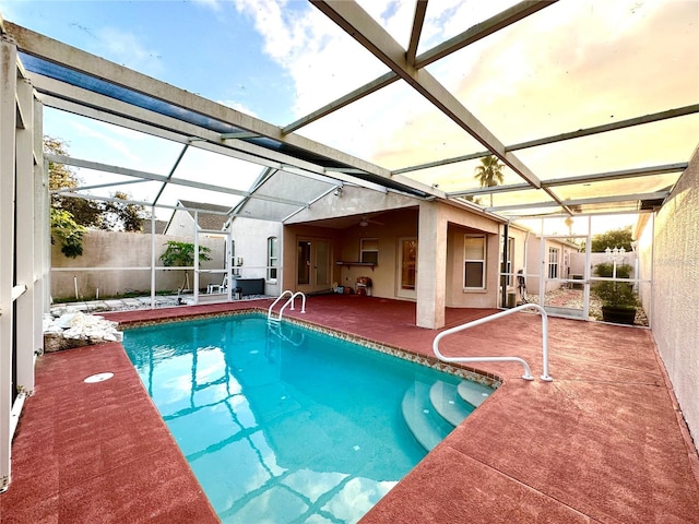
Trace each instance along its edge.
<instances>
[{"instance_id":1,"label":"beige stucco house walls of covered patio, including the square pillar","mask_svg":"<svg viewBox=\"0 0 699 524\"><path fill-rule=\"evenodd\" d=\"M368 209L382 210L381 205L389 201L401 207L382 211L374 222L362 227L358 224L362 193L367 195ZM359 277L368 276L372 282L372 296L417 300L418 317L430 318L426 321L429 325L440 323L445 307L497 307L500 225L490 218L438 202L419 202L418 206L414 199L358 188L343 190L340 198L328 195L315 206L317 211L312 215L307 211L303 217L299 214L298 219L315 221L316 225L289 224L284 227L284 289L296 290L298 242L323 240L330 243L332 251L330 287L355 288ZM347 213L357 214L346 217ZM342 218L342 223L330 222L329 227L322 227L323 221L337 217L346 217L347 222ZM483 291L465 291L463 288L464 235L469 233L484 234L487 238L486 289ZM418 239L417 285L413 296L399 293L399 250L401 240L410 238ZM360 260L362 239L378 241L379 260L375 267L352 265ZM523 241L519 242L523 250ZM424 294L422 299L420 293Z\"/></svg>"}]
</instances>

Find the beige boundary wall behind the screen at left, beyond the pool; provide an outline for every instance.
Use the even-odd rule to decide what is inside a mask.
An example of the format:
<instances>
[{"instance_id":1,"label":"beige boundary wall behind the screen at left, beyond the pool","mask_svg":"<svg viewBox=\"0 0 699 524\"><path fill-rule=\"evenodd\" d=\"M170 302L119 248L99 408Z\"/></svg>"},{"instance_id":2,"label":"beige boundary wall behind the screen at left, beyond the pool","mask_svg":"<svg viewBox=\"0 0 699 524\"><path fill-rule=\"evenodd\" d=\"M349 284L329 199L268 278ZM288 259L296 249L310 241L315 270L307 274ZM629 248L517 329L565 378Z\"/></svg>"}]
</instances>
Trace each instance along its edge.
<instances>
[{"instance_id":1,"label":"beige boundary wall behind the screen at left, beyond the pool","mask_svg":"<svg viewBox=\"0 0 699 524\"><path fill-rule=\"evenodd\" d=\"M189 237L169 235L155 236L156 265L157 259L165 251L168 240L193 242ZM201 246L212 250L211 261L202 262L202 269L221 267L224 243L221 239L202 238ZM61 253L60 246L51 246L51 297L54 299L74 299L75 278L80 299L112 297L135 290L150 294L151 289L151 235L117 231L87 231L83 237L83 254L76 259L68 259ZM56 271L71 267L74 271ZM83 270L84 267L84 270ZM108 267L143 267L142 270L109 270ZM189 272L190 285L193 275ZM177 290L182 285L182 270L156 271L156 290ZM202 274L199 287L220 284L221 275Z\"/></svg>"}]
</instances>

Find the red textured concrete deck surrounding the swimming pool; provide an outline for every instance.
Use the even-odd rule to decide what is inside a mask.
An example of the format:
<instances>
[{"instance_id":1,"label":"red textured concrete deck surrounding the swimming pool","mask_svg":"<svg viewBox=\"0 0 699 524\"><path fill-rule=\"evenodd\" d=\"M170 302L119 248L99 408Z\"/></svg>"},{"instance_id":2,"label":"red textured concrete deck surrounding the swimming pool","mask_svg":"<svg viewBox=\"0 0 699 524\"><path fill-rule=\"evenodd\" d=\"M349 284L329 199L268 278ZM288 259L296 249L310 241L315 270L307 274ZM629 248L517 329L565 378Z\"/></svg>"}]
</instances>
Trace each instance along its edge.
<instances>
[{"instance_id":1,"label":"red textured concrete deck surrounding the swimming pool","mask_svg":"<svg viewBox=\"0 0 699 524\"><path fill-rule=\"evenodd\" d=\"M107 313L165 320L270 300ZM431 356L437 332L415 303L309 297L315 324ZM448 309L448 326L495 310ZM443 341L443 353L516 355L478 364L502 385L420 462L363 523L699 523L699 460L649 330L516 313ZM87 376L111 371L105 382ZM216 522L208 500L119 344L39 357L13 444L1 522Z\"/></svg>"}]
</instances>

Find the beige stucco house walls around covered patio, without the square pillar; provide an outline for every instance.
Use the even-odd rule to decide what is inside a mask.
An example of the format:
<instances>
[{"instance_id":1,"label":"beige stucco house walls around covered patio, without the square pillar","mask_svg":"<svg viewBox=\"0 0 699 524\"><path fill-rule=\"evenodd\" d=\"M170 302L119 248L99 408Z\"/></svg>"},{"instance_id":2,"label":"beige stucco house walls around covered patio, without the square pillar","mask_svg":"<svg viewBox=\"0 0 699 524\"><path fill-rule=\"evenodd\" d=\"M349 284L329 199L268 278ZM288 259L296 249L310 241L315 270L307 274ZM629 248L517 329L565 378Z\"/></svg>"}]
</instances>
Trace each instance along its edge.
<instances>
[{"instance_id":1,"label":"beige stucco house walls around covered patio, without the square pillar","mask_svg":"<svg viewBox=\"0 0 699 524\"><path fill-rule=\"evenodd\" d=\"M500 225L484 214L469 212L450 204L433 202L440 227L447 229L446 273L436 275L435 269L418 263L417 286L425 279L445 278L447 307L497 307L499 290ZM391 207L393 206L393 207ZM399 287L399 249L401 239L417 238L418 251L424 249L418 238L420 213L418 201L395 193L381 193L365 188L345 187L340 195L329 194L294 216L284 227L284 289L296 288L297 249L303 239L318 239L332 247L332 285L354 288L358 277L371 278L371 294L376 297L416 300L417 294L401 293ZM367 226L360 226L363 213L374 215ZM487 237L486 288L465 291L463 288L464 235L484 234ZM360 259L363 238L375 238L379 246L379 261L374 267L352 265ZM424 259L422 259L424 260ZM429 261L430 258L428 257ZM337 264L337 262L344 262ZM431 261L430 261L431 263Z\"/></svg>"}]
</instances>

